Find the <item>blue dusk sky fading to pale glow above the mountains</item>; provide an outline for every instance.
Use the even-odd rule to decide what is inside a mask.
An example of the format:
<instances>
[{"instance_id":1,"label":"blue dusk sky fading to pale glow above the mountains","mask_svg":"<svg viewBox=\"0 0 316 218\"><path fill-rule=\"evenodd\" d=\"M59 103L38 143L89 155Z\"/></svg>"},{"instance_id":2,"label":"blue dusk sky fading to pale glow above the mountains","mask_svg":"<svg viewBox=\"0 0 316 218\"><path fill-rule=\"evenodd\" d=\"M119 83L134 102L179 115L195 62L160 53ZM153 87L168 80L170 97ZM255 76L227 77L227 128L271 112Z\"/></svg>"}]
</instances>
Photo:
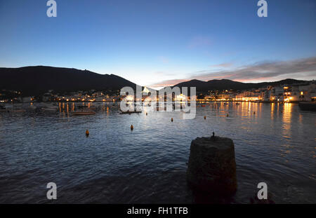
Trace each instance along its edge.
<instances>
[{"instance_id":1,"label":"blue dusk sky fading to pale glow above the mountains","mask_svg":"<svg viewBox=\"0 0 316 218\"><path fill-rule=\"evenodd\" d=\"M316 79L316 1L0 0L0 67L116 74L141 86Z\"/></svg>"}]
</instances>

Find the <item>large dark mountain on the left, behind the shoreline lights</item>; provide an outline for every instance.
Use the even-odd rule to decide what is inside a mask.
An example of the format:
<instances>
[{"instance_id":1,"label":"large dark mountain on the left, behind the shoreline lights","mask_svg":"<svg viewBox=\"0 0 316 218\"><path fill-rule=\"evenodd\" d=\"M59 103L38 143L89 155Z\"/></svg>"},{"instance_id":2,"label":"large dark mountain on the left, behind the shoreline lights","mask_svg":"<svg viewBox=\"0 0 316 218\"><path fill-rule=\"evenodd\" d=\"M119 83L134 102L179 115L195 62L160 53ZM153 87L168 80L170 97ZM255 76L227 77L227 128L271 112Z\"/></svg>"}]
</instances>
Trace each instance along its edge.
<instances>
[{"instance_id":1,"label":"large dark mountain on the left, behind the shoreline lights","mask_svg":"<svg viewBox=\"0 0 316 218\"><path fill-rule=\"evenodd\" d=\"M114 74L96 74L88 70L62 67L0 67L0 90L20 90L23 95L38 95L47 90L119 90L136 84Z\"/></svg>"}]
</instances>

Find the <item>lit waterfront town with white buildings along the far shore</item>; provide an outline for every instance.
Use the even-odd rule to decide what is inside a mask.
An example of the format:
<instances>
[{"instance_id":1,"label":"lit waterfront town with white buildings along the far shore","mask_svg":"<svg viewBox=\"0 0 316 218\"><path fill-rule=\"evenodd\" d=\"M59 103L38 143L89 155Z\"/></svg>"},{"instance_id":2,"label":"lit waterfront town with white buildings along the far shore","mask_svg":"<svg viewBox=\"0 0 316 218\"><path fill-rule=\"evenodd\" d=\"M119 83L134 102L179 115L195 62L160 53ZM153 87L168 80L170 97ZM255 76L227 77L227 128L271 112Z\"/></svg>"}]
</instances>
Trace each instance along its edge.
<instances>
[{"instance_id":1,"label":"lit waterfront town with white buildings along the far shore","mask_svg":"<svg viewBox=\"0 0 316 218\"><path fill-rule=\"evenodd\" d=\"M149 93L146 87L143 88L142 100ZM37 96L22 95L17 90L1 90L0 102L117 102L125 96L119 95L119 90L79 90L69 93L56 93L48 90L47 93ZM158 100L158 97L157 97ZM173 101L190 100L190 96L183 94L173 95ZM197 92L197 101L237 101L237 102L315 102L316 84L315 81L296 83L282 86L265 86L251 90L209 90L207 93Z\"/></svg>"}]
</instances>

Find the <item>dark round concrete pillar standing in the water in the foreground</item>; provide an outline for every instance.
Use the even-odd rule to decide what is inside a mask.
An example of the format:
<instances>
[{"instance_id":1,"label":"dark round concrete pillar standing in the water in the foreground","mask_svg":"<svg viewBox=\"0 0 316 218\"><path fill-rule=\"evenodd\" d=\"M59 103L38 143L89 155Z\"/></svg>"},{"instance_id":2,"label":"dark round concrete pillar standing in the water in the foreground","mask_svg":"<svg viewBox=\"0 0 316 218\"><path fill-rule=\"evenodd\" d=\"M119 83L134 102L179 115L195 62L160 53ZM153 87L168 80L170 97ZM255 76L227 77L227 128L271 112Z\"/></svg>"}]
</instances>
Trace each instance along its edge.
<instances>
[{"instance_id":1,"label":"dark round concrete pillar standing in the water in the foreground","mask_svg":"<svg viewBox=\"0 0 316 218\"><path fill-rule=\"evenodd\" d=\"M187 182L210 193L231 195L237 190L235 148L232 139L197 137L192 140Z\"/></svg>"}]
</instances>

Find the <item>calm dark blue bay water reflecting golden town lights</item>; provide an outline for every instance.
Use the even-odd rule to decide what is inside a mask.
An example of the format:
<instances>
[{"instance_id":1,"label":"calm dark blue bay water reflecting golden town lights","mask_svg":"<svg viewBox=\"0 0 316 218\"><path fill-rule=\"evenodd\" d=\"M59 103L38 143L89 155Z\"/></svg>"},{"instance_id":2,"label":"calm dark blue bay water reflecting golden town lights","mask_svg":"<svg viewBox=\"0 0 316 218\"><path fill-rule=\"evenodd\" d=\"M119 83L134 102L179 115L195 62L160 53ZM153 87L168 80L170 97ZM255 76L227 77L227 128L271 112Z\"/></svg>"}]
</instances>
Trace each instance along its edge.
<instances>
[{"instance_id":1,"label":"calm dark blue bay water reflecting golden town lights","mask_svg":"<svg viewBox=\"0 0 316 218\"><path fill-rule=\"evenodd\" d=\"M48 203L48 182L58 186L55 203L249 203L258 182L275 203L316 203L315 112L211 103L183 120L99 105L95 116L68 116L67 104L57 115L0 114L0 203ZM193 193L185 182L191 140L213 131L235 142L238 191L230 199Z\"/></svg>"}]
</instances>

